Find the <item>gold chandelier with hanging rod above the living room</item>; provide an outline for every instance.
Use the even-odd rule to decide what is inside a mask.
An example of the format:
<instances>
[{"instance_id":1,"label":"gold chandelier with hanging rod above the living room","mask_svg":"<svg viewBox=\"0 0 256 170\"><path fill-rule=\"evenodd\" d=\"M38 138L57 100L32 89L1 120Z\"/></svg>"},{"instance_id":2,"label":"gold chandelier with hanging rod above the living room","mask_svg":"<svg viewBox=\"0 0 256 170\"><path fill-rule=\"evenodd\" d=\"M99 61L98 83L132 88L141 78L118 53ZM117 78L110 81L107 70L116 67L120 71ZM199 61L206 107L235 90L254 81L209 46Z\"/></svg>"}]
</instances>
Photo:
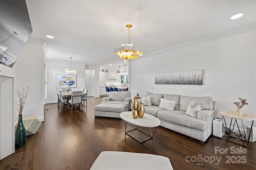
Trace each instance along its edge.
<instances>
[{"instance_id":1,"label":"gold chandelier with hanging rod above the living room","mask_svg":"<svg viewBox=\"0 0 256 170\"><path fill-rule=\"evenodd\" d=\"M132 24L127 24L126 27L129 28L129 42L125 45L122 44L122 47L114 49L114 53L121 59L136 59L143 55L143 51L141 51L141 47L133 47L132 44L130 44L130 27L132 27Z\"/></svg>"}]
</instances>

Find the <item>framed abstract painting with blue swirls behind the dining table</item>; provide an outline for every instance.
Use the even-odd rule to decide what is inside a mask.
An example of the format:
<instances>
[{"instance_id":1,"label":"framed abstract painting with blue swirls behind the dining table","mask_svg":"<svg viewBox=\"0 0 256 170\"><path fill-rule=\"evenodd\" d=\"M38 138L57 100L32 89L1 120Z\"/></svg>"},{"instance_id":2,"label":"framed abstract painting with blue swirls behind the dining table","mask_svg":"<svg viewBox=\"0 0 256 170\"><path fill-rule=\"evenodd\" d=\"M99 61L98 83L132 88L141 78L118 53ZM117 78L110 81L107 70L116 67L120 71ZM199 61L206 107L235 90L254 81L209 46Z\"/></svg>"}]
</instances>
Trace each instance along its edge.
<instances>
[{"instance_id":1,"label":"framed abstract painting with blue swirls behind the dining table","mask_svg":"<svg viewBox=\"0 0 256 170\"><path fill-rule=\"evenodd\" d=\"M71 74L56 74L56 88L75 88L76 75Z\"/></svg>"}]
</instances>

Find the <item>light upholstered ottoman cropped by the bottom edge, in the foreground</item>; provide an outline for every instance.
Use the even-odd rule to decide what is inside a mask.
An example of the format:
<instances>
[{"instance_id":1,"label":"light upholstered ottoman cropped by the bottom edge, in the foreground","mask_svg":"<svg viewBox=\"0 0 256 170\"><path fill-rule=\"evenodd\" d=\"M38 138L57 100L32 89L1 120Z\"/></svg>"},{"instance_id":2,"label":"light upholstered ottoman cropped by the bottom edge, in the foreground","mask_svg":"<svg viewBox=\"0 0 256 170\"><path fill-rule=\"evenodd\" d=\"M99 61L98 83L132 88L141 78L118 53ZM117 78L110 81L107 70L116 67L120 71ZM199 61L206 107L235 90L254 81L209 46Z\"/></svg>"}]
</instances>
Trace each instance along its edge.
<instances>
[{"instance_id":1,"label":"light upholstered ottoman cropped by the bottom edge, in the foreground","mask_svg":"<svg viewBox=\"0 0 256 170\"><path fill-rule=\"evenodd\" d=\"M90 170L173 170L169 158L133 152L101 152Z\"/></svg>"}]
</instances>

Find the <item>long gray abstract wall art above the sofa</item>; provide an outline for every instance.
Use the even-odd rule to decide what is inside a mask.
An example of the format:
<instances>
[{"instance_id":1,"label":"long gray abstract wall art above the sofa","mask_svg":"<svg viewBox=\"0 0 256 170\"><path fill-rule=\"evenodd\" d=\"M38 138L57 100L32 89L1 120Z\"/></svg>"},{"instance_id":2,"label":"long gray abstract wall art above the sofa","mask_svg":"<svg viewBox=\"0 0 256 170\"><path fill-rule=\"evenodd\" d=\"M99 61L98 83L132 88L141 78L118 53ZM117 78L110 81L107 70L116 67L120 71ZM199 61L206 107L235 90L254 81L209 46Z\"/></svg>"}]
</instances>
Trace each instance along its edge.
<instances>
[{"instance_id":1,"label":"long gray abstract wall art above the sofa","mask_svg":"<svg viewBox=\"0 0 256 170\"><path fill-rule=\"evenodd\" d=\"M203 70L183 70L155 73L155 84L203 85Z\"/></svg>"}]
</instances>

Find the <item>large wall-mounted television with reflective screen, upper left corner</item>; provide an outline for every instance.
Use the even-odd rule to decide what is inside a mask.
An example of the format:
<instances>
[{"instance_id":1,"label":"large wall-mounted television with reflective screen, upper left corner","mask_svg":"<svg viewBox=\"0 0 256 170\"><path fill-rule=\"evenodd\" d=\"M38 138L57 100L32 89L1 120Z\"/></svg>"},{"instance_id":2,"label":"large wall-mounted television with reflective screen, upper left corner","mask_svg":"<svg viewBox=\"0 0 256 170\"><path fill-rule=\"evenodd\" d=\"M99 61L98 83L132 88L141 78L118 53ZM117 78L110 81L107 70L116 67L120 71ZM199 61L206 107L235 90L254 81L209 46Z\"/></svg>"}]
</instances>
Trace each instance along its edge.
<instances>
[{"instance_id":1,"label":"large wall-mounted television with reflective screen, upper left corner","mask_svg":"<svg viewBox=\"0 0 256 170\"><path fill-rule=\"evenodd\" d=\"M0 64L13 67L32 31L25 0L0 0Z\"/></svg>"}]
</instances>

